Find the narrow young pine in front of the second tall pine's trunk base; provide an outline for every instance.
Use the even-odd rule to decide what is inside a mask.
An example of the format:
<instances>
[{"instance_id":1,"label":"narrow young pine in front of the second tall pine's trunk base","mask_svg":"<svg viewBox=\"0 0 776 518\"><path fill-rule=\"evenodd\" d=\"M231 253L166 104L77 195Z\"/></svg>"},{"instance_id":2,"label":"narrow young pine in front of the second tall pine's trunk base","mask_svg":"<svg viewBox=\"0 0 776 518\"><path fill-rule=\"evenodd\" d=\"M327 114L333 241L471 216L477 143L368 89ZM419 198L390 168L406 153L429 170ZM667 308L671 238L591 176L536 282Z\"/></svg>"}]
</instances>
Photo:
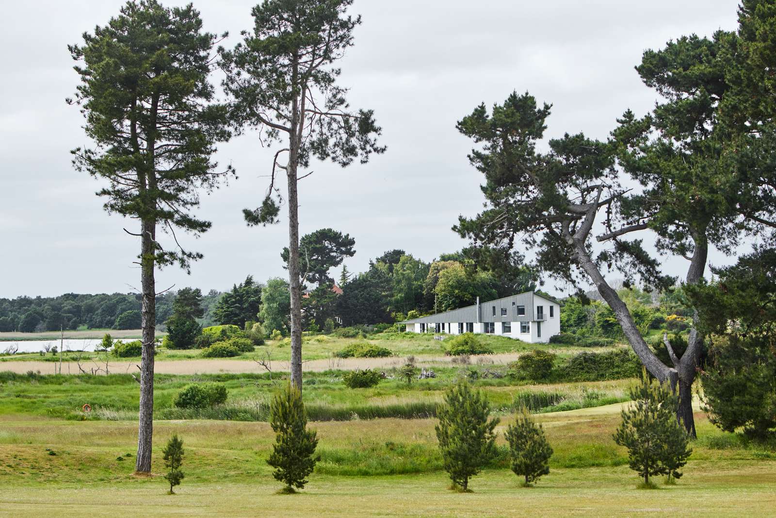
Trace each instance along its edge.
<instances>
[{"instance_id":1,"label":"narrow young pine in front of the second tall pine's trunk base","mask_svg":"<svg viewBox=\"0 0 776 518\"><path fill-rule=\"evenodd\" d=\"M314 457L318 439L315 430L307 429L302 391L289 384L277 392L270 406L269 424L275 432L275 444L267 464L275 468L275 480L286 484L282 492L293 493L294 488L307 484L307 475L320 461L320 456Z\"/></svg>"}]
</instances>

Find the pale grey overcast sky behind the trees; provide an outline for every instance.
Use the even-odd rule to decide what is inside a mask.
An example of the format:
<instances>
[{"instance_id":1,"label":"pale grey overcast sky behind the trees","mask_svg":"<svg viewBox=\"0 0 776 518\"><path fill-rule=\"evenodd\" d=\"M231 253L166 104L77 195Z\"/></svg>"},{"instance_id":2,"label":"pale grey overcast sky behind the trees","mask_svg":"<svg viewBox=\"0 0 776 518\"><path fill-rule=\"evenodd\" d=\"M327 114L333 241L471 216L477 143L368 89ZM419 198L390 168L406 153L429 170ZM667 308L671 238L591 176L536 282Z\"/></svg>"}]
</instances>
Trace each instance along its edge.
<instances>
[{"instance_id":1,"label":"pale grey overcast sky behind the trees","mask_svg":"<svg viewBox=\"0 0 776 518\"><path fill-rule=\"evenodd\" d=\"M3 9L0 297L140 287L132 264L138 244L121 230L136 223L106 214L94 195L99 182L72 168L69 150L87 141L78 109L64 103L78 84L68 43L80 43L81 33L122 4L57 0ZM251 2L194 5L206 30L230 32L229 46L252 27ZM300 183L300 233L331 227L352 235L357 253L346 264L356 272L387 249L425 260L460 249L465 242L450 227L459 214L476 214L483 196L466 159L471 142L456 120L481 102L527 90L554 105L547 137L584 131L605 138L627 108L642 114L655 102L633 70L643 50L684 34L734 30L736 7L735 0L356 0L352 13L363 23L341 62L341 85L352 89L352 106L375 110L388 151L346 169L312 164L314 174ZM264 196L271 151L248 133L222 144L217 159L234 165L239 179L203 199L198 214L213 221L212 230L196 242L185 238L204 259L191 276L162 270L160 290L223 290L249 273L259 281L285 276L286 219L247 228L241 214ZM667 262L676 275L686 265Z\"/></svg>"}]
</instances>

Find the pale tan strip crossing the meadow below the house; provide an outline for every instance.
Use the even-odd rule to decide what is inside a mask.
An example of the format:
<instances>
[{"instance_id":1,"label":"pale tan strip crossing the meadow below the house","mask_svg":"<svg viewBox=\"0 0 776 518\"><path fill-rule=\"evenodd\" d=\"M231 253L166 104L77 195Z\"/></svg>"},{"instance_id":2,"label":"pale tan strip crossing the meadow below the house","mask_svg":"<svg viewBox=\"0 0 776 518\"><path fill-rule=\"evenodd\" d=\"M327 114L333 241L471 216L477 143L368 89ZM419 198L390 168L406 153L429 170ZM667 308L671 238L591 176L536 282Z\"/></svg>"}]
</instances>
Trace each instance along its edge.
<instances>
[{"instance_id":1,"label":"pale tan strip crossing the meadow below the house","mask_svg":"<svg viewBox=\"0 0 776 518\"><path fill-rule=\"evenodd\" d=\"M487 356L472 356L473 364L495 364L505 365L517 358L515 353L490 354ZM415 363L418 367L425 366L450 366L450 356L415 356ZM328 369L390 369L390 367L400 367L404 365L406 359L404 356L395 356L391 358L346 358L346 359L323 359L308 360L303 365L303 370L320 372ZM137 372L137 361L113 361L109 363L109 370L112 374L123 374L125 372ZM42 361L8 361L0 362L0 371L10 370L18 374L24 374L29 370L38 371L40 374L54 374L54 362ZM88 364L85 364L88 369ZM288 361L272 361L272 370L275 372L287 372L290 370ZM160 374L218 374L218 373L262 373L264 367L249 360L161 360L154 366L154 372ZM75 362L62 363L62 374L78 374L78 364Z\"/></svg>"}]
</instances>

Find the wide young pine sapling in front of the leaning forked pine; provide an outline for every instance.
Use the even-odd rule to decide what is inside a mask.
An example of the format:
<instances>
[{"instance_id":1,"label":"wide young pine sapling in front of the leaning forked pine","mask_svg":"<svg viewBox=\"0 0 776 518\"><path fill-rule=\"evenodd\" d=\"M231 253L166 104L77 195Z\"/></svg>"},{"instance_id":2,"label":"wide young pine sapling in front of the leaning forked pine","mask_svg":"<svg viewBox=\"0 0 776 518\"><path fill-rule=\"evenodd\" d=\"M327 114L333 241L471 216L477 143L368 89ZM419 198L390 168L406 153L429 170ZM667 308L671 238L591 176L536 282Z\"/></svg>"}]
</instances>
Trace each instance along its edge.
<instances>
[{"instance_id":1,"label":"wide young pine sapling in front of the leaning forked pine","mask_svg":"<svg viewBox=\"0 0 776 518\"><path fill-rule=\"evenodd\" d=\"M634 405L622 411L622 423L614 434L615 443L628 448L629 466L650 485L650 477L681 477L679 468L692 453L688 434L677 422L677 396L667 383L650 381L643 368L641 382L630 389Z\"/></svg>"}]
</instances>

